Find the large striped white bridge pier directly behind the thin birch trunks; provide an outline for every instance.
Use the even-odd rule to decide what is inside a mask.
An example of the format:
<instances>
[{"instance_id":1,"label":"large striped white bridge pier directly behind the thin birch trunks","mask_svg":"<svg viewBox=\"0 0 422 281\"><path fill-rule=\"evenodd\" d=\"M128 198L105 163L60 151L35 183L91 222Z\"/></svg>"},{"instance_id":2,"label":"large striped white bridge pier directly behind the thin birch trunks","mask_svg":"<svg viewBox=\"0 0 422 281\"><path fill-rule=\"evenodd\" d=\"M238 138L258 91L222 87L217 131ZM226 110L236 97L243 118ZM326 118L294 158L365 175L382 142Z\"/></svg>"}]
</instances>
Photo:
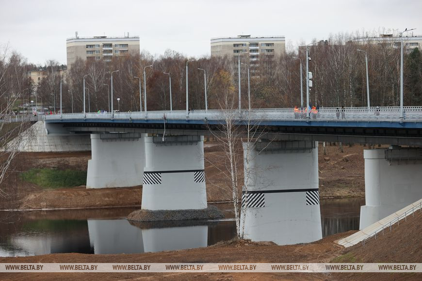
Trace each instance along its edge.
<instances>
[{"instance_id":1,"label":"large striped white bridge pier directly behind the thin birch trunks","mask_svg":"<svg viewBox=\"0 0 422 281\"><path fill-rule=\"evenodd\" d=\"M243 156L244 237L278 245L321 239L318 142L243 143Z\"/></svg>"}]
</instances>

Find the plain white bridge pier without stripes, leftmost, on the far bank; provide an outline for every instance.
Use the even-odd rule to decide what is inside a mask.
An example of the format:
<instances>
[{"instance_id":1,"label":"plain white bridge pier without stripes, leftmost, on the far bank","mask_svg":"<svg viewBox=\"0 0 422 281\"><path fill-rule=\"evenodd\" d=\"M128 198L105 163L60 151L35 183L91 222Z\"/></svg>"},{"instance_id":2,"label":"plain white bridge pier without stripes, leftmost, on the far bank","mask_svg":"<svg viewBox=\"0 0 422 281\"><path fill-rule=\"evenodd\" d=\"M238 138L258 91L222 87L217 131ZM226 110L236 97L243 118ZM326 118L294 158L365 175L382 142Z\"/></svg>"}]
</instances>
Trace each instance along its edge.
<instances>
[{"instance_id":1,"label":"plain white bridge pier without stripes, leftmost, on the far bank","mask_svg":"<svg viewBox=\"0 0 422 281\"><path fill-rule=\"evenodd\" d=\"M144 140L140 134L91 134L87 188L134 187L142 184Z\"/></svg>"}]
</instances>

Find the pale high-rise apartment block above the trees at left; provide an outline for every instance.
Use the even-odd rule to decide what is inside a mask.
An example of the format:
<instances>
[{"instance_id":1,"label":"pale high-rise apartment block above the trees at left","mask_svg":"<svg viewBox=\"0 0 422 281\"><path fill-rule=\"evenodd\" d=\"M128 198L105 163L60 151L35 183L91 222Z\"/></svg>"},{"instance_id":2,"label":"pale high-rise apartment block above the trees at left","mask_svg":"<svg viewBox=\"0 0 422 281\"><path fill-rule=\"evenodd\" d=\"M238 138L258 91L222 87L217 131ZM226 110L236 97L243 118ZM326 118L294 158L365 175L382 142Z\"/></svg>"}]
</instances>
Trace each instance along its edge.
<instances>
[{"instance_id":1,"label":"pale high-rise apartment block above the trees at left","mask_svg":"<svg viewBox=\"0 0 422 281\"><path fill-rule=\"evenodd\" d=\"M76 36L66 40L67 69L77 58L82 60L111 61L113 57L124 56L129 53L139 54L139 36L108 37Z\"/></svg>"}]
</instances>

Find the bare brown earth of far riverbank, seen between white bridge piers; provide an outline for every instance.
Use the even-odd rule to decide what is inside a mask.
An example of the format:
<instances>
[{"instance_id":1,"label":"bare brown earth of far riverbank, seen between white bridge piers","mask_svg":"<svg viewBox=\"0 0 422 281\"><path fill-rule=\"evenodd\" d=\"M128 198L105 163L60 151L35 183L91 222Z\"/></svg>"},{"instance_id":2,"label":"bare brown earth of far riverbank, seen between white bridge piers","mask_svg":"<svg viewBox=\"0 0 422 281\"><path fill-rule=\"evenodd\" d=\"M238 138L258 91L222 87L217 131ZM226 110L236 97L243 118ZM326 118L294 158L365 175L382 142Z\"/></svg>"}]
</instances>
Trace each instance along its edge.
<instances>
[{"instance_id":1,"label":"bare brown earth of far riverbank, seen between white bridge piers","mask_svg":"<svg viewBox=\"0 0 422 281\"><path fill-rule=\"evenodd\" d=\"M364 147L359 144L319 147L320 198L364 197ZM205 173L207 201L231 202L229 183L222 177L224 155L218 143L207 142ZM46 188L22 179L31 169L86 171L90 152L21 153L4 183L7 198L0 198L0 209L40 210L141 206L142 187L87 189L85 186ZM241 169L243 171L243 169Z\"/></svg>"}]
</instances>

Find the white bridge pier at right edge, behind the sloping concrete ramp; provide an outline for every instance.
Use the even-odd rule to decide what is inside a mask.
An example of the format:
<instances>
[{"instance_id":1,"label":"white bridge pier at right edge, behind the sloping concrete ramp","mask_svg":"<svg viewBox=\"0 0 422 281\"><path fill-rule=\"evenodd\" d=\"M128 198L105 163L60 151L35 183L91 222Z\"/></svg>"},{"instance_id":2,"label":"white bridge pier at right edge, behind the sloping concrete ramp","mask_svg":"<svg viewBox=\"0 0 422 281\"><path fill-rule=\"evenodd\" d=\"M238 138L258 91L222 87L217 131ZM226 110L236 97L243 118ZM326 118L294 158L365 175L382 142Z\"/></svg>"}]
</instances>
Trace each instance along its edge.
<instances>
[{"instance_id":1,"label":"white bridge pier at right edge, behind the sloping concrete ramp","mask_svg":"<svg viewBox=\"0 0 422 281\"><path fill-rule=\"evenodd\" d=\"M365 205L359 229L422 198L422 148L364 150Z\"/></svg>"}]
</instances>

